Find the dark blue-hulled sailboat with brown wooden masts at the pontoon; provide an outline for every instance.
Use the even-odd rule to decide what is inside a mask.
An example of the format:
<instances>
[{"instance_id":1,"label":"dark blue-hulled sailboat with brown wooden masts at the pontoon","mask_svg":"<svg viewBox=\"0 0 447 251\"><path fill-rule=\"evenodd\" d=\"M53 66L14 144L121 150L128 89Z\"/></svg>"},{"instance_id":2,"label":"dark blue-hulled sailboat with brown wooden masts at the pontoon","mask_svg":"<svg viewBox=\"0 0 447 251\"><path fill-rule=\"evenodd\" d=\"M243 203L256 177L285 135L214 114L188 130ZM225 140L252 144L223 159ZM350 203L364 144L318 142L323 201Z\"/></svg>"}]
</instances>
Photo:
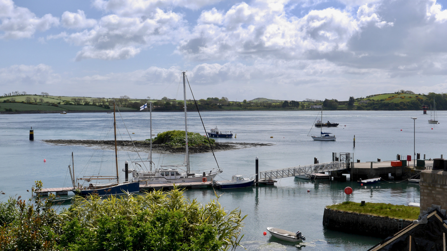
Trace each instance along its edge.
<instances>
[{"instance_id":1,"label":"dark blue-hulled sailboat with brown wooden masts at the pontoon","mask_svg":"<svg viewBox=\"0 0 447 251\"><path fill-rule=\"evenodd\" d=\"M116 176L84 176L82 178L77 178L76 180L85 180L90 182L91 180L115 180L109 183L90 183L89 186L82 186L80 183L76 186L75 182L75 167L74 167L74 161L73 161L73 176L72 176L72 184L73 189L72 192L74 192L77 195L80 196L87 196L90 194L97 194L100 196L103 195L116 195L116 194L124 194L124 193L134 193L139 192L139 182L129 182L119 181L119 175L118 175L118 150L117 150L117 142L116 142L116 120L115 120L115 101L113 106L113 118L114 118L114 134L115 134L115 165L116 165ZM72 154L73 157L73 154ZM72 175L72 172L70 170L70 176Z\"/></svg>"}]
</instances>

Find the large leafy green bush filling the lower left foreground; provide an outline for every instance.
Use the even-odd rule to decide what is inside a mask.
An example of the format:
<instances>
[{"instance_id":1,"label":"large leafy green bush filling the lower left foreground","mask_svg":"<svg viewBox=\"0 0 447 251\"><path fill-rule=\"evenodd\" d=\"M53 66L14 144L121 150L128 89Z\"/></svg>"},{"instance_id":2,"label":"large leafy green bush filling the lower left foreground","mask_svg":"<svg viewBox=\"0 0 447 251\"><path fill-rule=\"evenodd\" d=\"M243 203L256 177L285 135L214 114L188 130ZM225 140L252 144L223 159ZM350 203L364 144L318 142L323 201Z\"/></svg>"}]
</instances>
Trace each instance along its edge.
<instances>
[{"instance_id":1,"label":"large leafy green bush filling the lower left foreground","mask_svg":"<svg viewBox=\"0 0 447 251\"><path fill-rule=\"evenodd\" d=\"M201 205L186 199L175 187L119 198L76 197L59 214L52 199L0 203L0 250L223 251L240 246L246 217L217 200Z\"/></svg>"}]
</instances>

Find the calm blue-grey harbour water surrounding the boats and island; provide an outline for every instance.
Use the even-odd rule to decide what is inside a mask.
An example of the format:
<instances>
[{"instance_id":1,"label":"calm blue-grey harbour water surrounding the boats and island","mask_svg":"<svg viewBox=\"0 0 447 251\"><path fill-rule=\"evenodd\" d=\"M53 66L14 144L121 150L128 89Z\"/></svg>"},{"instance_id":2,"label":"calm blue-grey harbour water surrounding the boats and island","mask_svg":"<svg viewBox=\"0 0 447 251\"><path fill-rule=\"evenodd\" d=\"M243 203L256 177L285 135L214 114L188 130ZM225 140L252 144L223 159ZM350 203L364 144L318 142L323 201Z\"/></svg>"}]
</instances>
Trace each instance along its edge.
<instances>
[{"instance_id":1,"label":"calm blue-grey harbour water surrounding the boats and island","mask_svg":"<svg viewBox=\"0 0 447 251\"><path fill-rule=\"evenodd\" d=\"M268 142L274 146L245 148L216 152L223 173L219 179L232 175L254 174L254 159L259 157L260 170L291 167L332 160L332 152L352 152L354 159L362 162L396 159L396 154L413 153L413 120L416 120L416 152L427 158L439 157L445 143L439 135L446 131L447 113L439 111L438 125L427 123L422 111L333 111L325 112L323 121L340 123L337 128L325 129L337 136L336 142L315 142L307 137L316 118L315 111L257 111L257 112L203 112L207 130L218 126L220 130L233 130L237 136L219 141ZM148 113L122 113L118 115L118 140L149 138ZM182 113L153 113L154 133L165 130L184 130ZM197 113L189 113L190 131L203 134ZM42 139L111 139L113 114L68 113L61 114L15 114L0 115L0 190L6 196L29 196L26 189L34 180L42 180L46 187L69 186L67 166L71 153L75 156L76 176L113 175L113 151L84 146L55 146ZM126 127L122 121L125 121ZM345 126L346 125L346 126ZM33 126L35 140L28 140ZM433 130L431 129L433 128ZM402 131L401 131L402 130ZM135 133L135 134L132 134ZM312 129L311 134L319 134ZM356 147L352 146L355 134ZM270 137L273 138L270 138ZM147 152L119 151L119 169L126 159L147 158ZM184 155L153 154L154 162L174 164L183 162ZM46 159L46 163L43 162ZM214 168L216 164L210 153L190 156L195 169ZM121 172L123 176L123 172ZM343 193L346 186L353 194ZM311 192L307 192L307 190ZM220 192L220 191L219 191ZM186 192L207 202L214 198L213 190L197 189ZM310 181L295 178L278 180L274 186L261 186L243 190L225 191L219 202L227 209L239 207L245 219L244 245L248 250L366 250L380 239L355 234L325 230L322 226L325 205L342 201L371 201L393 204L408 204L419 201L419 187L414 184L382 182L375 186L359 187L355 183L337 181ZM305 247L263 236L266 227L273 226L291 231L300 230L307 237Z\"/></svg>"}]
</instances>

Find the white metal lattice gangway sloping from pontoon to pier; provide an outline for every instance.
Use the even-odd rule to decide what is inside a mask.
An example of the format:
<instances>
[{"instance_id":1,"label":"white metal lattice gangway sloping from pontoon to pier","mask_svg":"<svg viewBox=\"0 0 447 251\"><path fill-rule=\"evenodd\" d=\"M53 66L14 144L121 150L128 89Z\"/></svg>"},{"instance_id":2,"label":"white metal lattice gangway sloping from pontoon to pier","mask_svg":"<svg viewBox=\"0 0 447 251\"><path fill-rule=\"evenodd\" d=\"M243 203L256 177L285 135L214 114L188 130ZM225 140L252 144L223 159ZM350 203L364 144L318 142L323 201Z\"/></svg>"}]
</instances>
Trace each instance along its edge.
<instances>
[{"instance_id":1,"label":"white metal lattice gangway sloping from pontoon to pier","mask_svg":"<svg viewBox=\"0 0 447 251\"><path fill-rule=\"evenodd\" d=\"M348 168L345 162L333 161L306 166L287 167L274 170L260 171L259 180L274 180L297 175L316 174L321 172L339 171Z\"/></svg>"}]
</instances>

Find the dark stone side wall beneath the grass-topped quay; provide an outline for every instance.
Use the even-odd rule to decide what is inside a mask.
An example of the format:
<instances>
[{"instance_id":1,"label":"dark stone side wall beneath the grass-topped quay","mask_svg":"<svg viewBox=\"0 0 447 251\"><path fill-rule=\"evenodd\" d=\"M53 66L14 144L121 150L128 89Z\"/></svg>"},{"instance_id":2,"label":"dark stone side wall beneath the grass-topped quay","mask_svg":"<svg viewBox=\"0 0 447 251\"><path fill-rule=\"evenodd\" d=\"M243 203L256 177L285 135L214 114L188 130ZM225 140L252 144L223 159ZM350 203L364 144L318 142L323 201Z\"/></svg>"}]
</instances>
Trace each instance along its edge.
<instances>
[{"instance_id":1,"label":"dark stone side wall beneath the grass-topped quay","mask_svg":"<svg viewBox=\"0 0 447 251\"><path fill-rule=\"evenodd\" d=\"M402 220L402 228L409 226L411 223L413 222ZM325 208L323 214L323 226L330 230L378 238L387 238L400 231L399 219L328 208Z\"/></svg>"}]
</instances>

